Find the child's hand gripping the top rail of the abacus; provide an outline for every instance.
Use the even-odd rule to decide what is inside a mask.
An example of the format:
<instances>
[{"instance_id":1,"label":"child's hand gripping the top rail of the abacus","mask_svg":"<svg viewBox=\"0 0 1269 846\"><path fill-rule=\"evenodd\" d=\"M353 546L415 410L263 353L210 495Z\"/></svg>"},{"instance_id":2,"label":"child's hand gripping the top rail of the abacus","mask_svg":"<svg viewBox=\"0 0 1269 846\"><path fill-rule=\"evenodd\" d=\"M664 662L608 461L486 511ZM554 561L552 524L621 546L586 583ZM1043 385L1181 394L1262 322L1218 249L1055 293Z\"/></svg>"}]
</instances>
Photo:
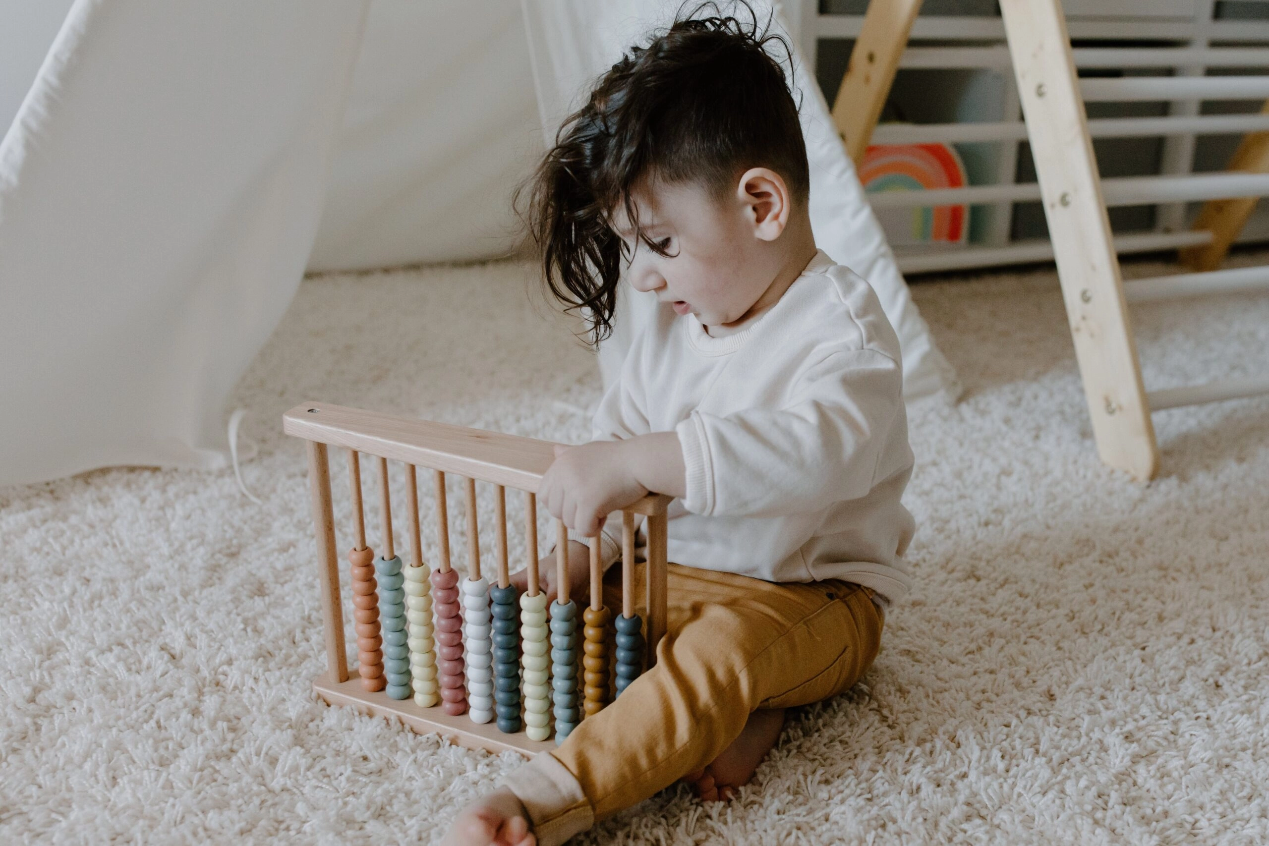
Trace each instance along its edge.
<instances>
[{"instance_id":1,"label":"child's hand gripping the top rail of the abacus","mask_svg":"<svg viewBox=\"0 0 1269 846\"><path fill-rule=\"evenodd\" d=\"M538 501L584 538L599 534L608 514L645 496L631 465L632 441L593 440L556 446L556 460L542 477Z\"/></svg>"}]
</instances>

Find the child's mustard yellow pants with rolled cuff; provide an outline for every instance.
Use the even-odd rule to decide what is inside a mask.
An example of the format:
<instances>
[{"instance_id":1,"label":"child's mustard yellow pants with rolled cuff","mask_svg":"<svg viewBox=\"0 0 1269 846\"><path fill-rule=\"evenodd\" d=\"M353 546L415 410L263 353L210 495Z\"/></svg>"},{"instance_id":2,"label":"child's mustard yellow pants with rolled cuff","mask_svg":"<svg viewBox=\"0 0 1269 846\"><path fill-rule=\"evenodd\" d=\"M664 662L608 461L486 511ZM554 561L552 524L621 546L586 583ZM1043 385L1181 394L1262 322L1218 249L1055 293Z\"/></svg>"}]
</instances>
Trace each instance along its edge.
<instances>
[{"instance_id":1,"label":"child's mustard yellow pants with rolled cuff","mask_svg":"<svg viewBox=\"0 0 1269 846\"><path fill-rule=\"evenodd\" d=\"M613 613L619 571L604 580ZM642 564L634 576L642 585ZM754 710L848 690L877 657L882 623L868 589L850 582L775 583L671 563L655 666L504 784L538 842L562 843L704 767Z\"/></svg>"}]
</instances>

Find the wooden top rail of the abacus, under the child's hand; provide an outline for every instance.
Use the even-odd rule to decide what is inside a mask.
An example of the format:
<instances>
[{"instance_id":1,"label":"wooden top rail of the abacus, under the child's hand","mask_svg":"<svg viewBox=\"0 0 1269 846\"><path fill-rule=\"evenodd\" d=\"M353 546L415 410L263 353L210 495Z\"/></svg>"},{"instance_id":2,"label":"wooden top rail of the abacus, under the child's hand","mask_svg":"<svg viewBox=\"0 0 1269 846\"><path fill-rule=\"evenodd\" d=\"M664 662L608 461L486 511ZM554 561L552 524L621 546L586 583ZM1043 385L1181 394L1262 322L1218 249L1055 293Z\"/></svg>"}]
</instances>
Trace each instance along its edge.
<instances>
[{"instance_id":1,"label":"wooden top rail of the abacus, under the child's hand","mask_svg":"<svg viewBox=\"0 0 1269 846\"><path fill-rule=\"evenodd\" d=\"M355 449L416 467L457 473L530 493L555 460L555 444L536 438L398 417L326 402L306 402L282 417L282 430L305 440ZM643 515L665 512L673 497L648 493L626 506Z\"/></svg>"}]
</instances>

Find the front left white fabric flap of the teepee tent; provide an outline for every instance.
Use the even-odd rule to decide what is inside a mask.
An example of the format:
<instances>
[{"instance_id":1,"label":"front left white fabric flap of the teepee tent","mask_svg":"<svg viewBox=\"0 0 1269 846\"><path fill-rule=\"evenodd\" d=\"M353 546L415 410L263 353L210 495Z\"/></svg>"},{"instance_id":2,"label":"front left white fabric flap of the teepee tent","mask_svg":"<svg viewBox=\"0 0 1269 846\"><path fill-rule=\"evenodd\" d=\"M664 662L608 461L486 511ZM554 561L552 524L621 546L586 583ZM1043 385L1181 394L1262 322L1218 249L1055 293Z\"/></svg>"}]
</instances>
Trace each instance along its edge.
<instances>
[{"instance_id":1,"label":"front left white fabric flap of the teepee tent","mask_svg":"<svg viewBox=\"0 0 1269 846\"><path fill-rule=\"evenodd\" d=\"M77 0L0 141L0 483L222 467L302 278L365 3Z\"/></svg>"}]
</instances>

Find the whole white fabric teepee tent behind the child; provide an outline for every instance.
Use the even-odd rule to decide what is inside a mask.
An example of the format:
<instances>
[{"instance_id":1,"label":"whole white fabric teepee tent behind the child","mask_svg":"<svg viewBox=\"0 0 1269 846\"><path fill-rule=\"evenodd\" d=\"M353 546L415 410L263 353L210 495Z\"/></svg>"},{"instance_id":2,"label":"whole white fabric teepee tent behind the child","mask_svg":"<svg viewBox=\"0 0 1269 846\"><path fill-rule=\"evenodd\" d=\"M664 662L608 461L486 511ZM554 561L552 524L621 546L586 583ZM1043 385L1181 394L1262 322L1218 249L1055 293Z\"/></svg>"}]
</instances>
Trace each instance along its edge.
<instances>
[{"instance_id":1,"label":"whole white fabric teepee tent behind the child","mask_svg":"<svg viewBox=\"0 0 1269 846\"><path fill-rule=\"evenodd\" d=\"M539 127L664 14L75 0L30 67L65 6L0 0L0 485L223 465L226 398L305 269L505 254ZM797 79L816 237L881 294L909 394L950 391L822 98ZM640 315L631 302L603 370Z\"/></svg>"}]
</instances>

